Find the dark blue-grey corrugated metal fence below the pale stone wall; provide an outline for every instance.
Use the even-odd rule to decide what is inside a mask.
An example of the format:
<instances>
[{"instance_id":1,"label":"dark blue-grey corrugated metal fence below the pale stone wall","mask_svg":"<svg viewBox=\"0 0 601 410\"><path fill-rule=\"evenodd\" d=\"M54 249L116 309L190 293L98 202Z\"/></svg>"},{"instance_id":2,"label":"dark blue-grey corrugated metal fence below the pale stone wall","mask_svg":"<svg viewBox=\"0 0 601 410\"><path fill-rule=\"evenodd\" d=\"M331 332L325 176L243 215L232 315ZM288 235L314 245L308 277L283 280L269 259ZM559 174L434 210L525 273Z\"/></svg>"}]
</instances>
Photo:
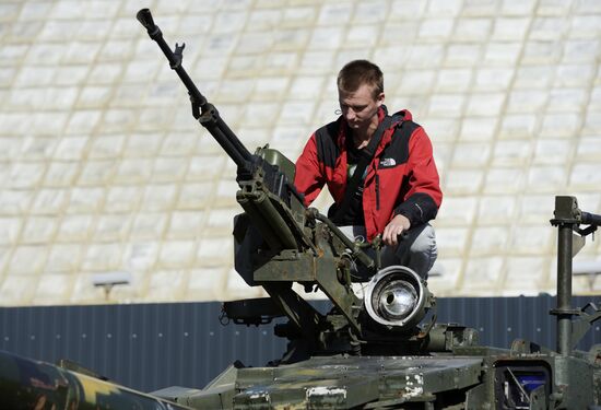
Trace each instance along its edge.
<instances>
[{"instance_id":1,"label":"dark blue-grey corrugated metal fence below the pale stone wall","mask_svg":"<svg viewBox=\"0 0 601 410\"><path fill-rule=\"evenodd\" d=\"M600 301L574 297L573 305ZM437 312L439 323L478 329L483 344L503 348L526 338L554 348L554 304L549 295L438 298ZM220 303L0 308L0 349L51 363L69 359L143 391L200 388L235 360L258 366L285 350L273 324L222 326L220 312ZM593 326L579 348L599 342Z\"/></svg>"}]
</instances>

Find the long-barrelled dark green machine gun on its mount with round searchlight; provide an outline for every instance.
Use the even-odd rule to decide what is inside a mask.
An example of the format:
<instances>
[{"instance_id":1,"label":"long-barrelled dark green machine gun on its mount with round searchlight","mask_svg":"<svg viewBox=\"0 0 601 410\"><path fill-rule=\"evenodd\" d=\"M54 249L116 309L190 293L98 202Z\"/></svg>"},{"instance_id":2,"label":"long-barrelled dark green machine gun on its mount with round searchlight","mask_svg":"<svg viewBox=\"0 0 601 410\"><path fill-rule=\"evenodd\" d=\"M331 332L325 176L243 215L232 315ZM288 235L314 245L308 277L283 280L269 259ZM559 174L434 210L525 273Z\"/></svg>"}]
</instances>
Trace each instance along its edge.
<instances>
[{"instance_id":1,"label":"long-barrelled dark green machine gun on its mount with round searchlight","mask_svg":"<svg viewBox=\"0 0 601 410\"><path fill-rule=\"evenodd\" d=\"M234 223L235 268L249 285L262 285L270 297L226 303L227 317L257 325L285 315L290 323L278 326L276 335L299 342L307 354L356 351L374 329L394 333L403 329L409 335L405 340L413 338L413 344L423 345L424 335L416 339L416 325L434 305L425 282L404 267L375 276L377 249L368 255L364 245L349 239L327 216L307 209L293 185L294 164L268 147L251 154L184 69L185 45L176 44L172 50L148 9L137 17L188 90L193 117L237 165L236 200L245 212ZM351 286L354 263L376 278L366 292L373 303L365 307ZM319 313L293 290L294 282L306 290L321 290L333 303L332 312Z\"/></svg>"}]
</instances>

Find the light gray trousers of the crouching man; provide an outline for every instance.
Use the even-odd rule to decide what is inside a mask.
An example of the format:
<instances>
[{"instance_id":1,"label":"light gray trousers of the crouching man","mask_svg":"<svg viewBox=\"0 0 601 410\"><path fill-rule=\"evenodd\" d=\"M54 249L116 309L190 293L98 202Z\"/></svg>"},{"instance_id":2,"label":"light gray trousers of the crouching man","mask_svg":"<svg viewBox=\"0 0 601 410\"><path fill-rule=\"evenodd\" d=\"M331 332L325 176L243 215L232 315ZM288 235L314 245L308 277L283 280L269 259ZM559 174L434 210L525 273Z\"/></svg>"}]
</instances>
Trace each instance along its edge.
<instances>
[{"instance_id":1,"label":"light gray trousers of the crouching man","mask_svg":"<svg viewBox=\"0 0 601 410\"><path fill-rule=\"evenodd\" d=\"M339 226L340 230L352 241L365 241L365 226ZM374 257L373 250L369 256ZM438 250L436 249L436 236L434 227L429 223L410 229L406 236L399 241L397 246L384 246L381 249L381 268L392 265L402 265L413 269L420 277L427 279L427 273L436 261ZM357 266L353 269L355 281L365 282L369 280L369 272Z\"/></svg>"}]
</instances>

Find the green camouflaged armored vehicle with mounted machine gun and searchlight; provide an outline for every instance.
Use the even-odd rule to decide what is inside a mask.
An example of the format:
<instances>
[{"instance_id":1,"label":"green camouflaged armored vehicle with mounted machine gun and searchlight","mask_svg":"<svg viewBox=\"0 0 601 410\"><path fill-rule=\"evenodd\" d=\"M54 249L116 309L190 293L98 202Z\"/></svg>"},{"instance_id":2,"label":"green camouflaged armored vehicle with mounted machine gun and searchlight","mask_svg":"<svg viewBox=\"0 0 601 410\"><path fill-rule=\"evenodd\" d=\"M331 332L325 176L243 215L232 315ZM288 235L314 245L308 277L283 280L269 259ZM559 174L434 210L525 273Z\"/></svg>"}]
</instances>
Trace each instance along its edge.
<instances>
[{"instance_id":1,"label":"green camouflaged armored vehicle with mounted machine gun and searchlight","mask_svg":"<svg viewBox=\"0 0 601 410\"><path fill-rule=\"evenodd\" d=\"M101 380L63 364L0 354L0 397L12 408L193 409L592 409L601 400L601 348L575 349L601 316L574 308L571 259L601 215L574 197L556 197L558 230L555 349L516 340L509 349L479 344L478 332L436 323L436 298L424 279L402 266L380 269L379 241L347 238L292 184L294 164L269 147L250 153L182 68L184 45L172 50L151 12L138 20L186 85L192 115L237 165L235 267L269 294L225 303L234 323L274 318L284 355L264 367L235 363L204 388L167 387L149 395ZM575 237L577 239L575 239ZM363 294L356 266L372 272ZM306 293L320 290L331 308L319 312ZM71 368L71 370L70 370ZM74 368L74 370L73 370Z\"/></svg>"}]
</instances>

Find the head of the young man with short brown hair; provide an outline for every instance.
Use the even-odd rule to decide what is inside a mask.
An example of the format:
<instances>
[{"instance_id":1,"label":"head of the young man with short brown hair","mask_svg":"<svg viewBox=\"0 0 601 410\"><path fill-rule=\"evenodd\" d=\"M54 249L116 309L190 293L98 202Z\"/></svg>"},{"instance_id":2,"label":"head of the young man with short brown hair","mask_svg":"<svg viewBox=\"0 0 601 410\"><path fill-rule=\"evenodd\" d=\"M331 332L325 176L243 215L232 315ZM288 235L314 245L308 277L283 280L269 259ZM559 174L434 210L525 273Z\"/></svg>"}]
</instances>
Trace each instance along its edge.
<instances>
[{"instance_id":1,"label":"head of the young man with short brown hair","mask_svg":"<svg viewBox=\"0 0 601 410\"><path fill-rule=\"evenodd\" d=\"M357 131L375 129L378 108L384 104L384 75L378 66L354 60L338 74L338 99L349 127Z\"/></svg>"}]
</instances>

